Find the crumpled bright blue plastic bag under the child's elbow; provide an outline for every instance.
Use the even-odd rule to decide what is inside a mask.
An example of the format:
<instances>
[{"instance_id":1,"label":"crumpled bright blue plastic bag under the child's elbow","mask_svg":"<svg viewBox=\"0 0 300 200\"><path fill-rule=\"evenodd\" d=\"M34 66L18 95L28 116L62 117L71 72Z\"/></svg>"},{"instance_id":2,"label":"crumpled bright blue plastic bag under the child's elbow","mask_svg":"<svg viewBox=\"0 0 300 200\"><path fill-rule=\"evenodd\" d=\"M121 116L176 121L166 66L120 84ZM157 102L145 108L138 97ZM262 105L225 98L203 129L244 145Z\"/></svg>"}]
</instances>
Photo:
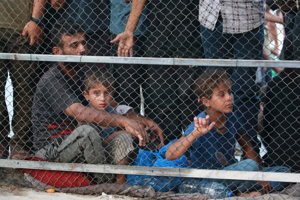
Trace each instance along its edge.
<instances>
[{"instance_id":1,"label":"crumpled bright blue plastic bag under the child's elbow","mask_svg":"<svg viewBox=\"0 0 300 200\"><path fill-rule=\"evenodd\" d=\"M168 167L168 168L188 168L188 162L185 155L181 158L168 161L165 159L165 153L169 145L174 142L172 140L169 144L162 147L159 152L139 150L139 155L134 162L136 166L147 167ZM127 175L128 185L151 185L155 191L167 192L176 189L176 186L180 183L182 178L180 177L165 177L165 176L143 176L143 175Z\"/></svg>"}]
</instances>

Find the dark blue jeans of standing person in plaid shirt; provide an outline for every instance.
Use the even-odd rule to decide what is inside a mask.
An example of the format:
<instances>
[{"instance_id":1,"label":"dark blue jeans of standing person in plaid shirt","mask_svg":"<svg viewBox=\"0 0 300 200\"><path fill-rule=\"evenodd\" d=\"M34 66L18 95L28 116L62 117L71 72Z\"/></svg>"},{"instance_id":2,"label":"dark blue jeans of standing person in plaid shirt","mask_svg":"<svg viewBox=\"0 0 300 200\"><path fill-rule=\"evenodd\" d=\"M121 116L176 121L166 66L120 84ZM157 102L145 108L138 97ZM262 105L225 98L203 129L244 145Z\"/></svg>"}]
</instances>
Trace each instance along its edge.
<instances>
[{"instance_id":1,"label":"dark blue jeans of standing person in plaid shirt","mask_svg":"<svg viewBox=\"0 0 300 200\"><path fill-rule=\"evenodd\" d=\"M248 32L229 34L223 33L222 22L223 19L220 15L213 31L200 26L206 59L262 59L263 25ZM235 113L243 123L248 139L256 153L259 153L260 142L257 139L259 101L255 97L257 68L221 67L221 69L231 75Z\"/></svg>"}]
</instances>

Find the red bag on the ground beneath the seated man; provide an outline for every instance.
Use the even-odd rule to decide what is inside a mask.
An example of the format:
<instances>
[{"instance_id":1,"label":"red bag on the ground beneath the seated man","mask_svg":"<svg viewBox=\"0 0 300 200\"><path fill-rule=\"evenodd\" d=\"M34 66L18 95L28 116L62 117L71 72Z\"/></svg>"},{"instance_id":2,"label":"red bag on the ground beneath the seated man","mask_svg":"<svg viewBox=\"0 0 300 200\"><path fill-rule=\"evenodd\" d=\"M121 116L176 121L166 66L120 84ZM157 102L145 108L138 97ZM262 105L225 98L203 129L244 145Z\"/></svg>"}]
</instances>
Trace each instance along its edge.
<instances>
[{"instance_id":1,"label":"red bag on the ground beneath the seated man","mask_svg":"<svg viewBox=\"0 0 300 200\"><path fill-rule=\"evenodd\" d=\"M36 156L29 156L25 160L46 161ZM27 173L32 177L40 180L53 187L68 188L68 187L85 187L95 185L90 177L76 171L55 171L44 169L20 169L22 174Z\"/></svg>"}]
</instances>

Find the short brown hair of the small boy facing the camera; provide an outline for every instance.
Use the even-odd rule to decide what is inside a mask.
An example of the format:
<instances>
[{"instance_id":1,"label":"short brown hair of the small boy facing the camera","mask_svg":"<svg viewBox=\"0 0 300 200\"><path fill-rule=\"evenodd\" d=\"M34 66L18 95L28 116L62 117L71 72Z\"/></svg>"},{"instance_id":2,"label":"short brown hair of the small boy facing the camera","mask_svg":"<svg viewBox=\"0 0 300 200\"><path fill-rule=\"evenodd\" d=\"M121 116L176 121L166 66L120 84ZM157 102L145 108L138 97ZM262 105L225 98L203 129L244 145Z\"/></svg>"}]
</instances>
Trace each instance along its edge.
<instances>
[{"instance_id":1,"label":"short brown hair of the small boy facing the camera","mask_svg":"<svg viewBox=\"0 0 300 200\"><path fill-rule=\"evenodd\" d=\"M104 86L106 88L115 87L115 79L113 75L106 70L91 70L85 74L84 86L85 91L89 93L91 88L96 88L98 86Z\"/></svg>"}]
</instances>

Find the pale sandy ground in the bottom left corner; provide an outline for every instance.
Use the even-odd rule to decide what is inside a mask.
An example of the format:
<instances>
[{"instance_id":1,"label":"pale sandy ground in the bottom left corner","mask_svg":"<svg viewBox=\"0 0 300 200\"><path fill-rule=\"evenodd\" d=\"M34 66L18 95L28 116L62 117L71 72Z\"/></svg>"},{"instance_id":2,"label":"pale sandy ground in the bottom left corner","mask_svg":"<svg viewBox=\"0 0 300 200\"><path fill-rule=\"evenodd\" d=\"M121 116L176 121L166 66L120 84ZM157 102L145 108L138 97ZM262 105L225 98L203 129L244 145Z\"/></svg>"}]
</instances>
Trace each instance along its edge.
<instances>
[{"instance_id":1,"label":"pale sandy ground in the bottom left corner","mask_svg":"<svg viewBox=\"0 0 300 200\"><path fill-rule=\"evenodd\" d=\"M16 184L17 183L17 184ZM18 169L0 168L0 200L81 200L81 199L101 199L101 200L138 200L123 195L80 195L72 193L47 193L38 189L26 187L23 174ZM142 200L142 199L141 199Z\"/></svg>"}]
</instances>

